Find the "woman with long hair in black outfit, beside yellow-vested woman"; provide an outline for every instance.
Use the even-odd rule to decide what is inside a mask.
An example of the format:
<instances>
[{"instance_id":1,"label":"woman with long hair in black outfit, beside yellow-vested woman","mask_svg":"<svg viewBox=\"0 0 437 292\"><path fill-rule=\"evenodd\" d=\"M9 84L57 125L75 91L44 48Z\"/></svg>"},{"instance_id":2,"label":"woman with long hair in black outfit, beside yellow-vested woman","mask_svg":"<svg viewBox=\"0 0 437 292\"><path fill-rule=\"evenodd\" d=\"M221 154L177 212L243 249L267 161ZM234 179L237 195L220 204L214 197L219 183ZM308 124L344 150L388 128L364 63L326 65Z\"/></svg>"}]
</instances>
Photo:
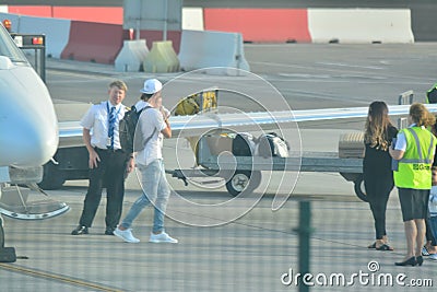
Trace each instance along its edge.
<instances>
[{"instance_id":1,"label":"woman with long hair in black outfit, beside yellow-vested woman","mask_svg":"<svg viewBox=\"0 0 437 292\"><path fill-rule=\"evenodd\" d=\"M367 201L375 221L376 241L368 248L378 250L393 250L387 238L386 210L390 192L394 187L388 151L397 133L398 129L389 119L387 104L373 102L368 109L364 135L363 175Z\"/></svg>"}]
</instances>

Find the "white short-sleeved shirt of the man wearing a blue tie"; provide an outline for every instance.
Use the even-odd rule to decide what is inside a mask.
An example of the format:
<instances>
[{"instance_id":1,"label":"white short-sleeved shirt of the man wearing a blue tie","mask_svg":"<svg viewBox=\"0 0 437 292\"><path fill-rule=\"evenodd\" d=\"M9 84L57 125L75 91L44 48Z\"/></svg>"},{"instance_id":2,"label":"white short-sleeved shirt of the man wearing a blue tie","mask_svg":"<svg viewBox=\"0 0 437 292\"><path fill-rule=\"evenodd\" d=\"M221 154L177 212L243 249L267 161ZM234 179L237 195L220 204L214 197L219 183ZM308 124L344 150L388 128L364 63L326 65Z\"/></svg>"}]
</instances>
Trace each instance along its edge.
<instances>
[{"instance_id":1,"label":"white short-sleeved shirt of the man wearing a blue tie","mask_svg":"<svg viewBox=\"0 0 437 292\"><path fill-rule=\"evenodd\" d=\"M91 145L99 149L108 147L108 129L109 129L109 110L111 108L109 101L92 105L88 112L81 119L81 126L87 130L92 130ZM114 149L121 149L120 138L118 135L119 121L125 117L126 106L118 104L116 106L117 121L114 129Z\"/></svg>"}]
</instances>

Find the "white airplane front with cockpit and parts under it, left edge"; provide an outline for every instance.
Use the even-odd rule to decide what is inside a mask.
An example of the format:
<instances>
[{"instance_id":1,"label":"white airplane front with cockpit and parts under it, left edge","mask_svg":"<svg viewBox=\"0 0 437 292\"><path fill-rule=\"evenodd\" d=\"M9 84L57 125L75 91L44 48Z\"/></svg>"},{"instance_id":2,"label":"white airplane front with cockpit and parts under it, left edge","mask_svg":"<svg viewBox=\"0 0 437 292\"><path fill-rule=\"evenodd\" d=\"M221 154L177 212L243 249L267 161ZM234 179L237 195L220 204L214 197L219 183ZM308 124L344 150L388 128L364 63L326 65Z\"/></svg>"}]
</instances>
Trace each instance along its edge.
<instances>
[{"instance_id":1,"label":"white airplane front with cockpit and parts under it, left edge","mask_svg":"<svg viewBox=\"0 0 437 292\"><path fill-rule=\"evenodd\" d=\"M9 200L0 201L0 214L40 220L70 209L60 202L27 203L17 188L3 185L38 183L43 165L55 155L58 142L58 120L47 86L0 24L0 199L3 189L9 194ZM0 215L2 235L1 224Z\"/></svg>"}]
</instances>

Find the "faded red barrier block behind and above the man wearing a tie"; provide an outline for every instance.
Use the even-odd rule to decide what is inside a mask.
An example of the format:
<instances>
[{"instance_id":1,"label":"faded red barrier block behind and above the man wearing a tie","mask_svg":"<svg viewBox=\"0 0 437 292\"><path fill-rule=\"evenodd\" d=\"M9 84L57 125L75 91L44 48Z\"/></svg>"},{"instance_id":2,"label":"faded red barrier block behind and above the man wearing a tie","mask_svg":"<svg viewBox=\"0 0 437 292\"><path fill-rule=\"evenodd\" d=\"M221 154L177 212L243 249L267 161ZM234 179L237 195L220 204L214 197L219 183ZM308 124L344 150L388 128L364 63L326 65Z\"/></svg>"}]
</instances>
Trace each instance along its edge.
<instances>
[{"instance_id":1,"label":"faded red barrier block behind and above the man wearing a tie","mask_svg":"<svg viewBox=\"0 0 437 292\"><path fill-rule=\"evenodd\" d=\"M121 25L72 21L62 59L114 63L128 32Z\"/></svg>"}]
</instances>

